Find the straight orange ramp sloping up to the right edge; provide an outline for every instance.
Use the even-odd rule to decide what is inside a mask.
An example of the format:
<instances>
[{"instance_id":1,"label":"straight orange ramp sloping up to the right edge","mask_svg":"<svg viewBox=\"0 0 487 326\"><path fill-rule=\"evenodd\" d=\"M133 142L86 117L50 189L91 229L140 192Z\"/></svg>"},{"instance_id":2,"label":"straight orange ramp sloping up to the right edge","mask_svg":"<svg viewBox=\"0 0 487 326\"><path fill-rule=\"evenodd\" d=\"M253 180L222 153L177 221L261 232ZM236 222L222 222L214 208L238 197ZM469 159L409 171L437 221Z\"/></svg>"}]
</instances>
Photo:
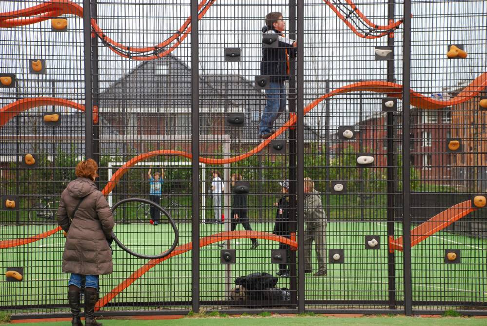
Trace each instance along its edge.
<instances>
[{"instance_id":1,"label":"straight orange ramp sloping up to the right edge","mask_svg":"<svg viewBox=\"0 0 487 326\"><path fill-rule=\"evenodd\" d=\"M414 247L421 241L427 239L434 233L441 231L448 227L451 223L458 221L462 217L467 216L472 211L476 211L477 208L472 207L471 200L466 200L456 205L453 205L449 209L442 211L439 214L431 217L428 221L421 223L417 227L411 230L411 247ZM394 250L402 251L403 237L400 236L394 239L393 236L389 237L389 251Z\"/></svg>"}]
</instances>

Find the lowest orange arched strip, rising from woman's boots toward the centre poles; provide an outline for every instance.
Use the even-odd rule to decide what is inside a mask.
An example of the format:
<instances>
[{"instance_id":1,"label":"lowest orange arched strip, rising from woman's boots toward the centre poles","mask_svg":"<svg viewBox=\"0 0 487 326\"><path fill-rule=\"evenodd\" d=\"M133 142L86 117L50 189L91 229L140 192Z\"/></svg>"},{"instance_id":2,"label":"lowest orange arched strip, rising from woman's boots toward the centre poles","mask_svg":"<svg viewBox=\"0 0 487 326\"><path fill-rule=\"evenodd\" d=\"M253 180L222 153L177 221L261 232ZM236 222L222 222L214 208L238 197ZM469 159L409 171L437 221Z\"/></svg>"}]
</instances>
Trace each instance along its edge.
<instances>
[{"instance_id":1,"label":"lowest orange arched strip, rising from woman's boots toward the centre poles","mask_svg":"<svg viewBox=\"0 0 487 326\"><path fill-rule=\"evenodd\" d=\"M200 239L200 248L205 247L207 245L211 245L212 243L221 242L225 240L232 240L232 239L248 239L248 238L256 238L256 239L265 239L269 241L277 241L283 244L289 245L291 248L297 248L298 243L296 241L292 241L288 238L277 236L272 233L267 232L257 232L257 231L228 231L228 232L220 232L215 233L213 235L209 235ZM142 277L150 268L153 268L157 264L169 259L171 257L183 254L189 250L193 249L193 243L188 242L184 245L177 246L169 255L164 258L159 259L151 259L149 262L144 264L141 268L137 269L133 272L127 279L122 281L119 285L113 288L109 293L107 293L103 298L98 300L96 303L95 310L98 311L101 307L105 306L109 303L114 297L120 294L123 290L128 288L133 282L137 279Z\"/></svg>"}]
</instances>

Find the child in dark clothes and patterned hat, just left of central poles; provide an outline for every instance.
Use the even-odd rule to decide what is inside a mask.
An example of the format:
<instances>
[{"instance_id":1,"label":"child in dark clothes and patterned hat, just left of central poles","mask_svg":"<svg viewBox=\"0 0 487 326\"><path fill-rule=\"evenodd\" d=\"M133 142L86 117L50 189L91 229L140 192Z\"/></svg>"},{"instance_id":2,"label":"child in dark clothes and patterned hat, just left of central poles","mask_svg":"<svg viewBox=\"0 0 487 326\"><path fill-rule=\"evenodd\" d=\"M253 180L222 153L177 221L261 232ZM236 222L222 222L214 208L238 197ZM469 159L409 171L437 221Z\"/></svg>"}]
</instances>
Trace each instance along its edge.
<instances>
[{"instance_id":1,"label":"child in dark clothes and patterned hat, just left of central poles","mask_svg":"<svg viewBox=\"0 0 487 326\"><path fill-rule=\"evenodd\" d=\"M276 210L276 223L274 224L275 235L280 235L286 238L290 238L289 234L289 180L279 183L282 186L282 193L284 194L274 206L277 206ZM289 245L279 243L279 249L286 250L287 261L289 262ZM287 264L279 264L278 276L289 277L289 269Z\"/></svg>"}]
</instances>

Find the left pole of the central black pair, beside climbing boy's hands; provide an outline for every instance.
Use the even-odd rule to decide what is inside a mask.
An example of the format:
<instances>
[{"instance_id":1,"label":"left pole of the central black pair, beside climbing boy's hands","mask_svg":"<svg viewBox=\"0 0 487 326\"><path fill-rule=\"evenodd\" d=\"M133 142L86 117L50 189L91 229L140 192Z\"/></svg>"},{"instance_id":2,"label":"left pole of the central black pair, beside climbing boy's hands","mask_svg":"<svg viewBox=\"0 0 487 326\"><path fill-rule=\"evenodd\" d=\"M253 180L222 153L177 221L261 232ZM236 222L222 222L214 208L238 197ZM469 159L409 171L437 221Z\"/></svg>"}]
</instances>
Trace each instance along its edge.
<instances>
[{"instance_id":1,"label":"left pole of the central black pair, beside climbing boy's hands","mask_svg":"<svg viewBox=\"0 0 487 326\"><path fill-rule=\"evenodd\" d=\"M289 37L296 39L296 0L289 0ZM289 114L296 114L296 62L290 61L289 64L290 76L289 76ZM289 130L289 219L290 219L290 232L296 233L296 129ZM298 293L297 293L297 280L296 280L296 251L291 251L289 254L289 288L291 290L291 305L297 305Z\"/></svg>"}]
</instances>

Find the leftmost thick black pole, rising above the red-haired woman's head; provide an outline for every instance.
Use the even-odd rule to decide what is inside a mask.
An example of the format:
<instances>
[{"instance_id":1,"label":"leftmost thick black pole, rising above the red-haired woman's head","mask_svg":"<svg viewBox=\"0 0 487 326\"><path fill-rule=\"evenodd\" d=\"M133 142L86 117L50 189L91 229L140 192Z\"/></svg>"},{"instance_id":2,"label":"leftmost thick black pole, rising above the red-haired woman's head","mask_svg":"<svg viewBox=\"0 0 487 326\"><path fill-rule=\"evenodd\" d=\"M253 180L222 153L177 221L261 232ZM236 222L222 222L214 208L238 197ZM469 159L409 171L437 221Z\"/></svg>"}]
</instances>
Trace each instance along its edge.
<instances>
[{"instance_id":1,"label":"leftmost thick black pole, rising above the red-haired woman's head","mask_svg":"<svg viewBox=\"0 0 487 326\"><path fill-rule=\"evenodd\" d=\"M83 44L85 70L85 158L93 158L93 103L91 72L91 4L83 0Z\"/></svg>"}]
</instances>

